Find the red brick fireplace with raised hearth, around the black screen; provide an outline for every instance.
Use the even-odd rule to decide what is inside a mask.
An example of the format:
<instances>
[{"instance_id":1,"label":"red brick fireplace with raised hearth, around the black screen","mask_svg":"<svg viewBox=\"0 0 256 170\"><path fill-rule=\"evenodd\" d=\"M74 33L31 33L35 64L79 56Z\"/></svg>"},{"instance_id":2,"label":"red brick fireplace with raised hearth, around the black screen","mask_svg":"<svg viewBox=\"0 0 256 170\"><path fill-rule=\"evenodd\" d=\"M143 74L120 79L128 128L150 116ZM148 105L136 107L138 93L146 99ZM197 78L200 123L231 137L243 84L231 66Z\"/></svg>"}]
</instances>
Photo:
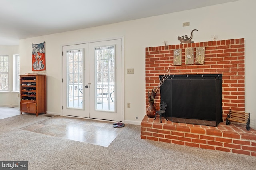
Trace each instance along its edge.
<instances>
[{"instance_id":1,"label":"red brick fireplace with raised hearth, around the black screen","mask_svg":"<svg viewBox=\"0 0 256 170\"><path fill-rule=\"evenodd\" d=\"M205 47L205 63L185 65L185 48ZM173 49L182 49L182 65L173 65ZM222 74L223 121L229 109L245 111L244 85L244 38L201 43L188 43L146 48L146 105L148 90L159 83L159 75L165 74L169 64L171 74ZM195 57L194 57L195 58ZM160 92L155 105L159 109ZM163 121L163 119L162 119ZM256 156L256 131L246 130L246 125L221 122L217 127L173 123L159 117L144 117L141 123L141 138L175 143L205 149L222 150Z\"/></svg>"}]
</instances>

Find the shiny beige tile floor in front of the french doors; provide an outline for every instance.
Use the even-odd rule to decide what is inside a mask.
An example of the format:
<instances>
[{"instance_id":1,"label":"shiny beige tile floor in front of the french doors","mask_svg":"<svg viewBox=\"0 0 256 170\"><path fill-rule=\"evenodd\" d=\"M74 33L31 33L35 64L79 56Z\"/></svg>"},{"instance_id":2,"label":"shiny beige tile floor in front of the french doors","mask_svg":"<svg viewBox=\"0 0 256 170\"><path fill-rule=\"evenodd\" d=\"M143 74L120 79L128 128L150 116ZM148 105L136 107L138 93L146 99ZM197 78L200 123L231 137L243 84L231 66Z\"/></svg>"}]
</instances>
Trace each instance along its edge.
<instances>
[{"instance_id":1,"label":"shiny beige tile floor in front of the french doors","mask_svg":"<svg viewBox=\"0 0 256 170\"><path fill-rule=\"evenodd\" d=\"M8 111L5 112L10 111L9 108L6 109ZM19 111L18 113L20 114ZM2 111L0 117L1 115ZM122 128L113 128L113 122L110 121L53 115L22 130L108 147Z\"/></svg>"}]
</instances>

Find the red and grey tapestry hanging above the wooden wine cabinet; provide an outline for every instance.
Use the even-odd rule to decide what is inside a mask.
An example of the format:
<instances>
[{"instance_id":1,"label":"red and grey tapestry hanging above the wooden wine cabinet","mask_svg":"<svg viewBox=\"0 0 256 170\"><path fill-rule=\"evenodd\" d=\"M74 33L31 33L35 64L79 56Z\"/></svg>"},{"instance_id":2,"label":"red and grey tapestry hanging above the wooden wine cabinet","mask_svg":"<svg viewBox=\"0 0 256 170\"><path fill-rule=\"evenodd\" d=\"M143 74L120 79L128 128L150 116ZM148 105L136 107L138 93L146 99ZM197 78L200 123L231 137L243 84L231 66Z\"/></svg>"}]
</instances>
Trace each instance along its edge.
<instances>
[{"instance_id":1,"label":"red and grey tapestry hanging above the wooden wine cabinet","mask_svg":"<svg viewBox=\"0 0 256 170\"><path fill-rule=\"evenodd\" d=\"M45 42L32 44L32 73L41 73L45 70Z\"/></svg>"}]
</instances>

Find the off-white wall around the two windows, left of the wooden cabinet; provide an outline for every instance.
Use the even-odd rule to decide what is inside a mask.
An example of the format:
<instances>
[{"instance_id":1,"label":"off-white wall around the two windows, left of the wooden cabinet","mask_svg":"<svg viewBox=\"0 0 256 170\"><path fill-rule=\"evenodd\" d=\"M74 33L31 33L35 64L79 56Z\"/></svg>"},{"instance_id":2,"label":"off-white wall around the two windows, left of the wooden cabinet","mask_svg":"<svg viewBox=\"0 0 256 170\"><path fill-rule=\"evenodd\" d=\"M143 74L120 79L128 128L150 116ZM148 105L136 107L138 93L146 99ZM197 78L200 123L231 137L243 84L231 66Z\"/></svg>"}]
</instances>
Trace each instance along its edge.
<instances>
[{"instance_id":1,"label":"off-white wall around the two windows, left of the wooden cabinet","mask_svg":"<svg viewBox=\"0 0 256 170\"><path fill-rule=\"evenodd\" d=\"M9 91L0 92L0 106L20 106L18 92L12 92L13 55L19 54L19 46L0 45L0 55L9 56Z\"/></svg>"}]
</instances>

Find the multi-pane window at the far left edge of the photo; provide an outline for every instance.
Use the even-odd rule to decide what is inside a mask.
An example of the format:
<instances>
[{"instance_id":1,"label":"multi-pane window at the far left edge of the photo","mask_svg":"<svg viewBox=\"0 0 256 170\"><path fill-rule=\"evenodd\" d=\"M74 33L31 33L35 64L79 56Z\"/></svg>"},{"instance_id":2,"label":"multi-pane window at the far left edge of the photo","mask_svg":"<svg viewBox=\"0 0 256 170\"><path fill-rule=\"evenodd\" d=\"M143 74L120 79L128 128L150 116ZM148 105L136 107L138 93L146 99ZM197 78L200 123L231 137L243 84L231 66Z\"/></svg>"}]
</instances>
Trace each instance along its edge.
<instances>
[{"instance_id":1,"label":"multi-pane window at the far left edge of the photo","mask_svg":"<svg viewBox=\"0 0 256 170\"><path fill-rule=\"evenodd\" d=\"M8 55L0 55L0 91L8 91Z\"/></svg>"}]
</instances>

